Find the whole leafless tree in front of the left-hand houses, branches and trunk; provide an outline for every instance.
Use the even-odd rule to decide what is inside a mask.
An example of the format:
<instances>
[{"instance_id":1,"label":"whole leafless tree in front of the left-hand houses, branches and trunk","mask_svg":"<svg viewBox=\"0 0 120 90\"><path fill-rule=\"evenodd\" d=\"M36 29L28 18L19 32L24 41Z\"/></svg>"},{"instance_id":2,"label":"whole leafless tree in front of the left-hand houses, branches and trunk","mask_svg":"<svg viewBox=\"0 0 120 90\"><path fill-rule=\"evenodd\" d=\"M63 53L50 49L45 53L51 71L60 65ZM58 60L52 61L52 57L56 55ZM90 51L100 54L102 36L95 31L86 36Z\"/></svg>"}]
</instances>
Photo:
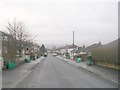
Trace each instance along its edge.
<instances>
[{"instance_id":1,"label":"whole leafless tree in front of the left-hand houses, branches and trunk","mask_svg":"<svg viewBox=\"0 0 120 90\"><path fill-rule=\"evenodd\" d=\"M25 24L20 20L17 21L14 19L12 22L8 22L6 29L10 36L14 38L14 48L19 51L20 56L24 47L24 42L27 44L25 46L29 46L29 43L34 43L35 41L36 36L32 37L30 33L26 31Z\"/></svg>"}]
</instances>

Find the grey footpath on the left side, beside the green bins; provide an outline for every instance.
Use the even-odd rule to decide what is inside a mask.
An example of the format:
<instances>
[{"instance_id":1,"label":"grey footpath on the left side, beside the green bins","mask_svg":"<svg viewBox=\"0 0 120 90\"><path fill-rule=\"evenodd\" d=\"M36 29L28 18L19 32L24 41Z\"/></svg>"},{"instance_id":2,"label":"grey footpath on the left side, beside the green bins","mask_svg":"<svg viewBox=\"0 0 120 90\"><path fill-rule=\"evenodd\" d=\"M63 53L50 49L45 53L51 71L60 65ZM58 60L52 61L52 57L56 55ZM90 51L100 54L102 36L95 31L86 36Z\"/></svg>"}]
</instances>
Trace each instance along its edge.
<instances>
[{"instance_id":1,"label":"grey footpath on the left side, beside the green bins","mask_svg":"<svg viewBox=\"0 0 120 90\"><path fill-rule=\"evenodd\" d=\"M12 88L23 76L32 70L44 57L32 60L29 63L23 63L14 69L2 71L2 88Z\"/></svg>"}]
</instances>

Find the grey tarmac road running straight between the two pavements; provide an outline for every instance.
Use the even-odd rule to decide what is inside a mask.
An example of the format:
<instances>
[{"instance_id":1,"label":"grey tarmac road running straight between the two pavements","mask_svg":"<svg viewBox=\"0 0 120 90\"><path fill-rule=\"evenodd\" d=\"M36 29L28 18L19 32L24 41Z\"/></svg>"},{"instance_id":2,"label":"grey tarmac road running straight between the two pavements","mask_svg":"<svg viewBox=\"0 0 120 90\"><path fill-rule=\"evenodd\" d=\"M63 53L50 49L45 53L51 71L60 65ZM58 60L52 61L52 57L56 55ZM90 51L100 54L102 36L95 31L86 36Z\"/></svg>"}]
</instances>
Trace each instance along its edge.
<instances>
[{"instance_id":1,"label":"grey tarmac road running straight between the two pavements","mask_svg":"<svg viewBox=\"0 0 120 90\"><path fill-rule=\"evenodd\" d=\"M48 55L15 88L115 88L117 85Z\"/></svg>"}]
</instances>

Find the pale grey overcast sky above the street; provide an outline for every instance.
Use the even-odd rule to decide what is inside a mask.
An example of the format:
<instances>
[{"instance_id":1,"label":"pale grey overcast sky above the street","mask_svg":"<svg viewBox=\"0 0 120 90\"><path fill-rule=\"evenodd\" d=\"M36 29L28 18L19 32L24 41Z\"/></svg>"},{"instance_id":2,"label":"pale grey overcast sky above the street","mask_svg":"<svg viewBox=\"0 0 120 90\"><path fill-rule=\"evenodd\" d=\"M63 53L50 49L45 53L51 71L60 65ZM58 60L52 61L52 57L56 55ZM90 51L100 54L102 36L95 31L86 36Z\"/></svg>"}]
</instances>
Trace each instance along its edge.
<instances>
[{"instance_id":1,"label":"pale grey overcast sky above the street","mask_svg":"<svg viewBox=\"0 0 120 90\"><path fill-rule=\"evenodd\" d=\"M14 18L21 20L37 42L49 47L89 46L118 38L119 0L1 0L0 29Z\"/></svg>"}]
</instances>

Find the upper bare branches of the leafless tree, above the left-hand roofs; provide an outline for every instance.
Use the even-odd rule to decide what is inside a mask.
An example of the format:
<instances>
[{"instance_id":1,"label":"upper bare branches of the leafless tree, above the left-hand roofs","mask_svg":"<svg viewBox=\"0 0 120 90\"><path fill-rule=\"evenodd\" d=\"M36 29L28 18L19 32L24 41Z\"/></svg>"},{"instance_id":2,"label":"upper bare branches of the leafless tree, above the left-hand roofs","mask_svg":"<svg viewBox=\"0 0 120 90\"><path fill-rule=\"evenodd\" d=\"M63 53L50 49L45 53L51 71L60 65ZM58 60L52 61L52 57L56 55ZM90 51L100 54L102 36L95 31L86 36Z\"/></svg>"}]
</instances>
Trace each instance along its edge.
<instances>
[{"instance_id":1,"label":"upper bare branches of the leafless tree, above the left-hand roofs","mask_svg":"<svg viewBox=\"0 0 120 90\"><path fill-rule=\"evenodd\" d=\"M30 38L29 32L25 30L25 25L21 21L14 19L13 22L8 22L6 28L9 34L18 41L27 41Z\"/></svg>"}]
</instances>

